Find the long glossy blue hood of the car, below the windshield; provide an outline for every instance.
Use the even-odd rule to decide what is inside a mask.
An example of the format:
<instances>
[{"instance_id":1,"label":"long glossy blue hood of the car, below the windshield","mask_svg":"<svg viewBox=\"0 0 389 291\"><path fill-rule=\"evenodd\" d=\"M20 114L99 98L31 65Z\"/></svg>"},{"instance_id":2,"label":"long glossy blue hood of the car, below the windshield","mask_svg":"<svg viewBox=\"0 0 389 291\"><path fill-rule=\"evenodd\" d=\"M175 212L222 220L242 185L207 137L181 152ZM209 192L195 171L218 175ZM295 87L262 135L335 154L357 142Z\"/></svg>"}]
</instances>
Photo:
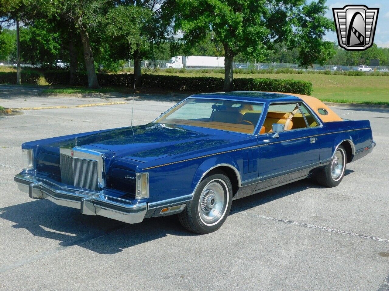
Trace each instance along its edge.
<instances>
[{"instance_id":1,"label":"long glossy blue hood of the car, below the windshield","mask_svg":"<svg viewBox=\"0 0 389 291\"><path fill-rule=\"evenodd\" d=\"M176 154L204 154L207 149L224 148L247 135L212 128L185 125L149 123L147 125L117 128L77 135L77 145L112 156L142 163ZM59 147L74 147L74 137L50 139L42 148L46 152L59 151ZM60 140L60 141L59 141Z\"/></svg>"}]
</instances>

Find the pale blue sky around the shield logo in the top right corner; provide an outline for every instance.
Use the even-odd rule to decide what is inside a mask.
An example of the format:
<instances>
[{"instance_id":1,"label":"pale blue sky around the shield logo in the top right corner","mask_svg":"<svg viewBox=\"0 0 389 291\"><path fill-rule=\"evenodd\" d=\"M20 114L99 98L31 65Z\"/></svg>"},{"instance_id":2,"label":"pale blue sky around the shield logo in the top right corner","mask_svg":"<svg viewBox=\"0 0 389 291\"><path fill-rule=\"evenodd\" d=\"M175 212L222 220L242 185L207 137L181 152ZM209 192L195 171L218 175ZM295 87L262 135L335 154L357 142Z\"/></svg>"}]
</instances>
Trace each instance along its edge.
<instances>
[{"instance_id":1,"label":"pale blue sky around the shield logo in the top right corner","mask_svg":"<svg viewBox=\"0 0 389 291\"><path fill-rule=\"evenodd\" d=\"M332 14L332 8L343 8L345 5L366 5L369 8L379 8L377 26L375 28L374 43L378 47L389 47L389 0L352 0L352 1L339 1L339 0L327 0L327 6L329 6L326 17L334 19ZM331 42L338 42L336 38L336 32L327 33L327 40Z\"/></svg>"}]
</instances>

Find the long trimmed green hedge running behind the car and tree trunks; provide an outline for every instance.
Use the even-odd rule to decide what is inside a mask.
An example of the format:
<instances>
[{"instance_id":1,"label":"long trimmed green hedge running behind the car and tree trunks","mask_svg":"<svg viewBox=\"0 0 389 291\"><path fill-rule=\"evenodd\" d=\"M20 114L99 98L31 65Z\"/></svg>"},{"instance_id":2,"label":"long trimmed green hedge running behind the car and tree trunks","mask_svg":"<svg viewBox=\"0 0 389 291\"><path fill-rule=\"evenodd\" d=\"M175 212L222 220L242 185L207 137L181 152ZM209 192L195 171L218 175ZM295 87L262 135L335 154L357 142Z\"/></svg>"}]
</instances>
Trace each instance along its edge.
<instances>
[{"instance_id":1,"label":"long trimmed green hedge running behind the car and tree trunks","mask_svg":"<svg viewBox=\"0 0 389 291\"><path fill-rule=\"evenodd\" d=\"M51 85L69 85L70 73L67 71L47 71L44 73L47 83ZM132 87L134 74L97 74L102 87ZM76 74L74 85L88 86L86 74ZM144 74L142 86L164 88L177 91L217 92L222 91L223 78L216 77L181 77L167 75ZM269 78L237 78L234 79L233 90L236 91L270 91L310 95L312 83L300 80L278 80Z\"/></svg>"}]
</instances>

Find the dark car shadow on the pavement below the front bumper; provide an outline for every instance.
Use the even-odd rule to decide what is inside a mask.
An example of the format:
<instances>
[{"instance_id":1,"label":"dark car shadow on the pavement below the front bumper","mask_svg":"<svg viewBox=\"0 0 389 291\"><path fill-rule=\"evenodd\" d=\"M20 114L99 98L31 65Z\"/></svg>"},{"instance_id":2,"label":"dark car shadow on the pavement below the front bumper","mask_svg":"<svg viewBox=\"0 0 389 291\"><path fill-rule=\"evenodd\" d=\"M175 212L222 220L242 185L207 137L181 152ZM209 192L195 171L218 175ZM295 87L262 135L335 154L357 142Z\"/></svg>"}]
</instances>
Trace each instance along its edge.
<instances>
[{"instance_id":1,"label":"dark car shadow on the pavement below the front bumper","mask_svg":"<svg viewBox=\"0 0 389 291\"><path fill-rule=\"evenodd\" d=\"M58 206L47 200L0 208L0 218L14 222L12 227L15 229L26 229L33 236L59 241L63 248L77 245L105 255L168 234L193 235L181 227L175 216L148 218L142 223L127 224L105 217L82 215L80 210ZM33 240L32 237L30 239ZM50 241L47 243L51 245Z\"/></svg>"}]
</instances>

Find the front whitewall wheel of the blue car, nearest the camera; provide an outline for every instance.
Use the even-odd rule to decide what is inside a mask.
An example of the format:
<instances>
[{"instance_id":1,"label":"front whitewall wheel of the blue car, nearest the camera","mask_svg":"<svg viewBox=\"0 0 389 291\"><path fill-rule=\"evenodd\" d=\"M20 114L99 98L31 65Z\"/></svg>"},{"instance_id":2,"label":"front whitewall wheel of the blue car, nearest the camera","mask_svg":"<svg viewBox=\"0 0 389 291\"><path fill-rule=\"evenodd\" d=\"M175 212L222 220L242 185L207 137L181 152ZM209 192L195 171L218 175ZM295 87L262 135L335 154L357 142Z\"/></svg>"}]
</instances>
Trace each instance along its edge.
<instances>
[{"instance_id":1,"label":"front whitewall wheel of the blue car, nearest the camera","mask_svg":"<svg viewBox=\"0 0 389 291\"><path fill-rule=\"evenodd\" d=\"M198 234L218 230L228 217L232 203L232 186L224 173L206 177L184 211L178 217L183 227Z\"/></svg>"}]
</instances>

